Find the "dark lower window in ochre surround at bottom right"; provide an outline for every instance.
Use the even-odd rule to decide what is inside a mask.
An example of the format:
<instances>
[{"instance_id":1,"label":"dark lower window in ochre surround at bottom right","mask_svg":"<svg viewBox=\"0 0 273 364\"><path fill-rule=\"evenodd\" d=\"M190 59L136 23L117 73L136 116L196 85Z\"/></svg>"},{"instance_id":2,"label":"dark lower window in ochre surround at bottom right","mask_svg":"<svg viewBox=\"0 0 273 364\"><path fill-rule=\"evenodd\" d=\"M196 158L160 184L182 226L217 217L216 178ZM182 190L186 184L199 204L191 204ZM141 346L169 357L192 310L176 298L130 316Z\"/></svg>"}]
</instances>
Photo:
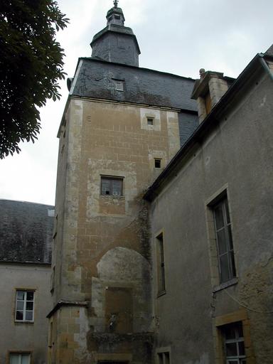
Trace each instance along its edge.
<instances>
[{"instance_id":1,"label":"dark lower window in ochre surround at bottom right","mask_svg":"<svg viewBox=\"0 0 273 364\"><path fill-rule=\"evenodd\" d=\"M242 323L222 326L226 364L247 364Z\"/></svg>"}]
</instances>

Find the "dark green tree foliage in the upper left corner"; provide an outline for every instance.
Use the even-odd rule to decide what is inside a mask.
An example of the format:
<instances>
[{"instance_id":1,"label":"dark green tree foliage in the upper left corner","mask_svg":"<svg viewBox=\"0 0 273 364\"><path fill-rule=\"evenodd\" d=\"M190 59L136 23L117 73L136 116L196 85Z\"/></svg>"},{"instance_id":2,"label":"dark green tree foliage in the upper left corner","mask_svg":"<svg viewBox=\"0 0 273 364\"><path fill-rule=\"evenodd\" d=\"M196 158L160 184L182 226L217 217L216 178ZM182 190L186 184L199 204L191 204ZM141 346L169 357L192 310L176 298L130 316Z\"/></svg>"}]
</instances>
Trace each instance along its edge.
<instances>
[{"instance_id":1,"label":"dark green tree foliage in the upper left corner","mask_svg":"<svg viewBox=\"0 0 273 364\"><path fill-rule=\"evenodd\" d=\"M55 36L67 23L53 0L0 1L1 159L37 139L38 107L60 98L64 53Z\"/></svg>"}]
</instances>

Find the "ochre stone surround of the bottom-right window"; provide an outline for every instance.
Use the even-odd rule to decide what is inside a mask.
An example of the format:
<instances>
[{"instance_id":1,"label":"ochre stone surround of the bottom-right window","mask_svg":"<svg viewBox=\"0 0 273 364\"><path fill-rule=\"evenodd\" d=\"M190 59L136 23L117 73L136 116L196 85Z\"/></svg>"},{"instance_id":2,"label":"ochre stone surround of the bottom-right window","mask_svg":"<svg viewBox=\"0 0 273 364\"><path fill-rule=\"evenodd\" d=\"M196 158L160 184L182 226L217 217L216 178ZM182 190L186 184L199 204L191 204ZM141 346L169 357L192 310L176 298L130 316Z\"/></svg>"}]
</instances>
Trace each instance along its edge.
<instances>
[{"instance_id":1,"label":"ochre stone surround of the bottom-right window","mask_svg":"<svg viewBox=\"0 0 273 364\"><path fill-rule=\"evenodd\" d=\"M223 326L237 322L242 323L242 332L245 343L245 359L247 361L247 364L256 363L250 336L250 319L248 319L247 310L244 308L238 311L233 311L230 314L216 316L213 319L213 343L215 351L215 363L226 363Z\"/></svg>"}]
</instances>

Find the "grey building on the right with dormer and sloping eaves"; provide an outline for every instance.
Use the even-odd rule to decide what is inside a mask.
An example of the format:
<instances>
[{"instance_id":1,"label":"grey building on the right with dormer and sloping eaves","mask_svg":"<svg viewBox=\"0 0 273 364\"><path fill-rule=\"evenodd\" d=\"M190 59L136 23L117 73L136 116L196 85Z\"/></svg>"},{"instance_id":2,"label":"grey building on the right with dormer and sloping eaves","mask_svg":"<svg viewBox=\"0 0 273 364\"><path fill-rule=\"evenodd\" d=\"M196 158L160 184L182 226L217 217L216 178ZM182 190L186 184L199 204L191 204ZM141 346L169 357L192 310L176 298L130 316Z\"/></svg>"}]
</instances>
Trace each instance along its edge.
<instances>
[{"instance_id":1,"label":"grey building on the right with dormer and sloping eaves","mask_svg":"<svg viewBox=\"0 0 273 364\"><path fill-rule=\"evenodd\" d=\"M200 126L144 196L156 363L272 363L273 48L230 81L201 70Z\"/></svg>"}]
</instances>

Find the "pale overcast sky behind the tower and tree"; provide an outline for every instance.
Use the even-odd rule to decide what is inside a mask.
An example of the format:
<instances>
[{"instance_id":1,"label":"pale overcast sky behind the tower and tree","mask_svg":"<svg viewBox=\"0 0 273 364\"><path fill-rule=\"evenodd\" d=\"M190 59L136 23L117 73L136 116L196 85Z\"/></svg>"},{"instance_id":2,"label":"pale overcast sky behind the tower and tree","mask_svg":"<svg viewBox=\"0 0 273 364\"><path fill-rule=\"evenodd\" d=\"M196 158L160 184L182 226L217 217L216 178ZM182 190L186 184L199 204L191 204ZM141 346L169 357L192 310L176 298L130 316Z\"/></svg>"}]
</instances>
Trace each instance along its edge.
<instances>
[{"instance_id":1,"label":"pale overcast sky behind the tower and tree","mask_svg":"<svg viewBox=\"0 0 273 364\"><path fill-rule=\"evenodd\" d=\"M58 41L65 49L65 72L73 77L78 57L91 55L92 37L106 25L111 0L59 0L70 18ZM273 43L272 0L120 0L125 26L139 41L140 67L186 77L200 68L237 77L247 63ZM41 109L42 130L35 144L0 160L0 198L54 205L57 132L68 97Z\"/></svg>"}]
</instances>

